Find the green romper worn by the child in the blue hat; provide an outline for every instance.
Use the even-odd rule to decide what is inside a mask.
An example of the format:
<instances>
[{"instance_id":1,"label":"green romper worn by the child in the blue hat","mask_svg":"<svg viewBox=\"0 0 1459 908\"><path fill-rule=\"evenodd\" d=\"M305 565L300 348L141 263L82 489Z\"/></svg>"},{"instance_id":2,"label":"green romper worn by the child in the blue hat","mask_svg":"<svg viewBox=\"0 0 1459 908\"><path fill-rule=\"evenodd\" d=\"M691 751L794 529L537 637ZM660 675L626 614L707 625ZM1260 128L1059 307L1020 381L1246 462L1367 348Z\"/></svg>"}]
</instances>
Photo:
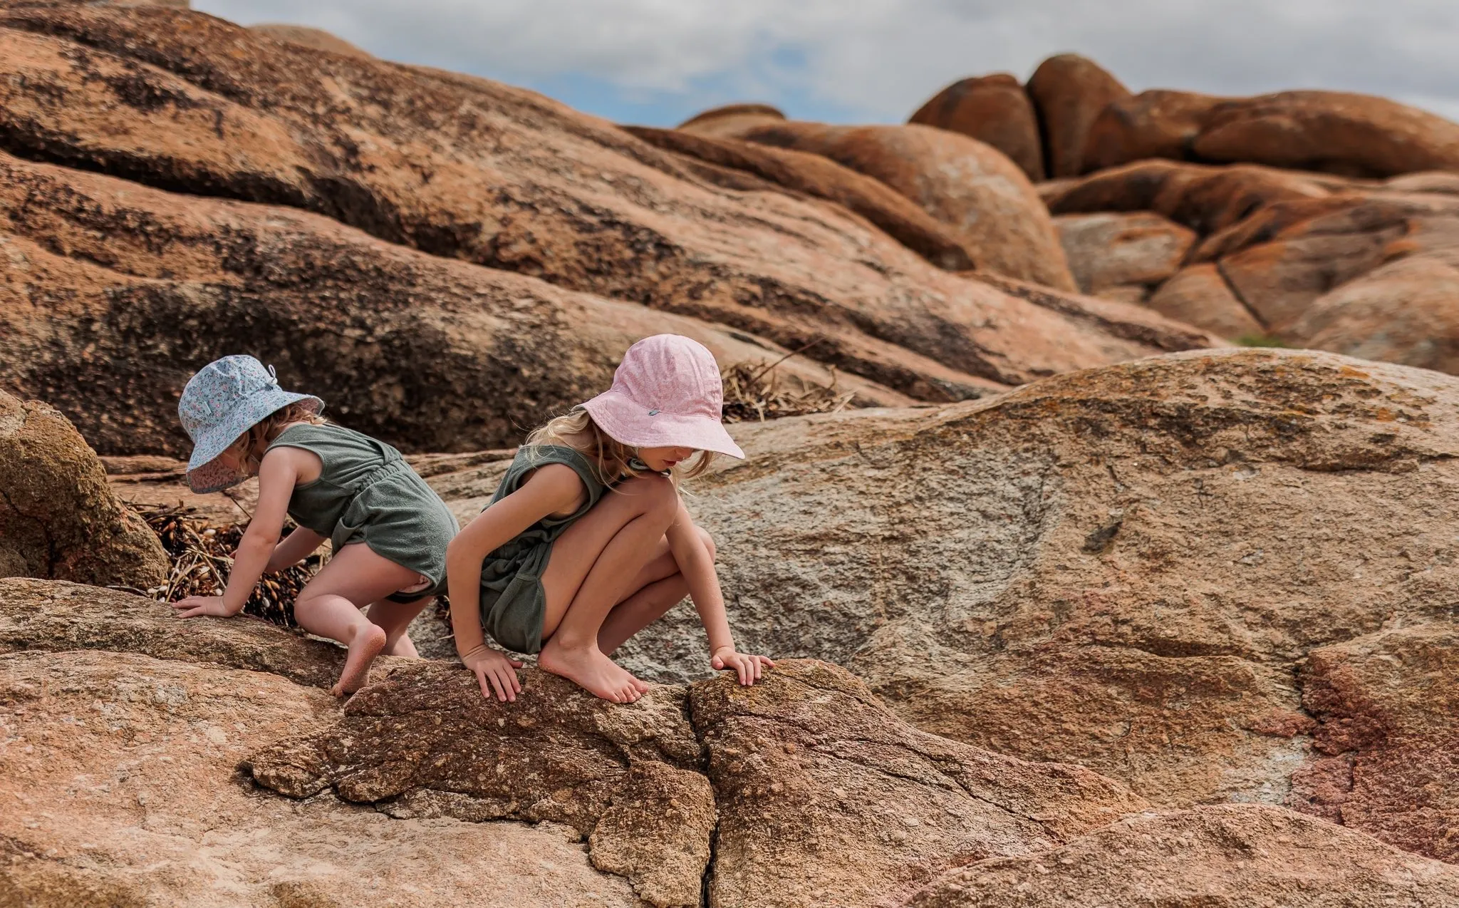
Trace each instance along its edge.
<instances>
[{"instance_id":1,"label":"green romper worn by the child in the blue hat","mask_svg":"<svg viewBox=\"0 0 1459 908\"><path fill-rule=\"evenodd\" d=\"M400 451L333 423L292 425L268 450L279 447L314 451L324 463L318 479L293 488L289 517L296 524L327 536L336 552L363 542L429 581L391 594L391 601L445 593L446 543L461 527Z\"/></svg>"}]
</instances>

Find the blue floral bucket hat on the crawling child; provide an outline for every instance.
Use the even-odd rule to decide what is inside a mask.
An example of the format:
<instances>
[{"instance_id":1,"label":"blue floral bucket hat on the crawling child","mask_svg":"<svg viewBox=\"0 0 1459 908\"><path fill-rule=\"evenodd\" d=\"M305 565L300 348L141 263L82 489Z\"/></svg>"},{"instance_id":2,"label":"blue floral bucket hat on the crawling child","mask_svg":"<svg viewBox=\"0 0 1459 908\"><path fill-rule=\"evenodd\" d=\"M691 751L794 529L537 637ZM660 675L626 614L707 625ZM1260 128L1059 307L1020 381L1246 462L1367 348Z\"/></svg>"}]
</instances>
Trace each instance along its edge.
<instances>
[{"instance_id":1,"label":"blue floral bucket hat on the crawling child","mask_svg":"<svg viewBox=\"0 0 1459 908\"><path fill-rule=\"evenodd\" d=\"M280 388L273 366L264 368L252 356L225 356L203 366L178 400L178 419L193 439L187 485L194 492L222 492L248 479L219 463L217 455L290 403L302 403L314 413L324 409L312 394Z\"/></svg>"}]
</instances>

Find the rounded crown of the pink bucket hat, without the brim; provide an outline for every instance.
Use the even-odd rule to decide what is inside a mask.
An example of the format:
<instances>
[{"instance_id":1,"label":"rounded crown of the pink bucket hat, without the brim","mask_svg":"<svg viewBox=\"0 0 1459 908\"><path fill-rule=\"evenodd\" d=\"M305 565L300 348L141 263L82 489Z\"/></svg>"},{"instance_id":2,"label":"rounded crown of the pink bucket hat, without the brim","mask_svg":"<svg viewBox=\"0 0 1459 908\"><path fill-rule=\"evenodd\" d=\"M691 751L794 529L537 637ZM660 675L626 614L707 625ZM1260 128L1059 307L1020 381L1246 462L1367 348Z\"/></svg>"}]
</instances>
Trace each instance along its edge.
<instances>
[{"instance_id":1,"label":"rounded crown of the pink bucket hat, without the brim","mask_svg":"<svg viewBox=\"0 0 1459 908\"><path fill-rule=\"evenodd\" d=\"M718 420L724 409L715 355L680 334L654 334L629 347L613 372L613 390L651 416L673 413Z\"/></svg>"}]
</instances>

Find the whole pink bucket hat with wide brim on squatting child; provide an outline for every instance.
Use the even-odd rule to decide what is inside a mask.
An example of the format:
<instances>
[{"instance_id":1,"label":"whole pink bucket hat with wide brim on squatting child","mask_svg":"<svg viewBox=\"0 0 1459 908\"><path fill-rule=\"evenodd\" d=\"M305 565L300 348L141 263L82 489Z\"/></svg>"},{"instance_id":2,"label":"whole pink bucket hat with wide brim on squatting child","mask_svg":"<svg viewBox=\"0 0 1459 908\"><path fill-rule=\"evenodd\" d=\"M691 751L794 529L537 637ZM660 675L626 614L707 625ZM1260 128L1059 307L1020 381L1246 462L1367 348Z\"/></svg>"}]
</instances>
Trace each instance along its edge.
<instances>
[{"instance_id":1,"label":"whole pink bucket hat with wide brim on squatting child","mask_svg":"<svg viewBox=\"0 0 1459 908\"><path fill-rule=\"evenodd\" d=\"M744 457L721 422L724 382L715 355L678 334L635 343L613 388L582 404L592 422L635 448L693 448Z\"/></svg>"}]
</instances>

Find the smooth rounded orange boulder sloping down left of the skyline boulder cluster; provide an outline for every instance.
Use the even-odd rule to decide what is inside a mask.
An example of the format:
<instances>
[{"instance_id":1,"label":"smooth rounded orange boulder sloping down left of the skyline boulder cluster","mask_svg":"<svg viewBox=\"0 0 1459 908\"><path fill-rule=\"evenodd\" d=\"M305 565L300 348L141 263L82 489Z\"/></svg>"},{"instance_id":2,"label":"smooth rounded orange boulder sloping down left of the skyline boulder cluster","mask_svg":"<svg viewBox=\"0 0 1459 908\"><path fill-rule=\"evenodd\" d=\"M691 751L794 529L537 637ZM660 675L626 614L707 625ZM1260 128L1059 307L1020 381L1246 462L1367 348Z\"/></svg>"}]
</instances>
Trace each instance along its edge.
<instances>
[{"instance_id":1,"label":"smooth rounded orange boulder sloping down left of the skyline boulder cluster","mask_svg":"<svg viewBox=\"0 0 1459 908\"><path fill-rule=\"evenodd\" d=\"M1074 289L1053 223L1029 178L976 139L916 124L797 121L754 127L743 137L824 155L875 177L957 231L980 269Z\"/></svg>"}]
</instances>

